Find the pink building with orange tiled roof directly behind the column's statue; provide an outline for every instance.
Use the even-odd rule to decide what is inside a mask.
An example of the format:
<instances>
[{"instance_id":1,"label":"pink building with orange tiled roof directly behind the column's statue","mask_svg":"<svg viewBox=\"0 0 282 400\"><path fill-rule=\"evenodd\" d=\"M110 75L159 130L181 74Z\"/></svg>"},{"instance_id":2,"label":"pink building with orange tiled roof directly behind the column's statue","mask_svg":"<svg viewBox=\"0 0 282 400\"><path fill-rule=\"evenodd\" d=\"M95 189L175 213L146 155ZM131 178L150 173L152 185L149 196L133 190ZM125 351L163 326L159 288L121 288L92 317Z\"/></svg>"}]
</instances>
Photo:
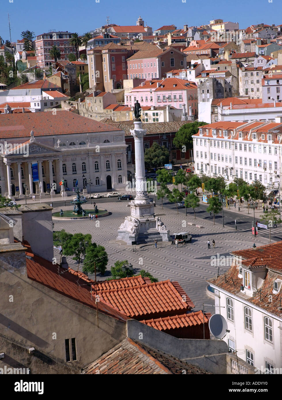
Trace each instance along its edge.
<instances>
[{"instance_id":1,"label":"pink building with orange tiled roof directly behind the column's statue","mask_svg":"<svg viewBox=\"0 0 282 400\"><path fill-rule=\"evenodd\" d=\"M164 106L170 105L177 109L183 108L192 114L198 113L197 85L184 79L166 78L142 82L140 86L133 88L130 93L125 94L125 103L133 107L136 100L141 106Z\"/></svg>"}]
</instances>

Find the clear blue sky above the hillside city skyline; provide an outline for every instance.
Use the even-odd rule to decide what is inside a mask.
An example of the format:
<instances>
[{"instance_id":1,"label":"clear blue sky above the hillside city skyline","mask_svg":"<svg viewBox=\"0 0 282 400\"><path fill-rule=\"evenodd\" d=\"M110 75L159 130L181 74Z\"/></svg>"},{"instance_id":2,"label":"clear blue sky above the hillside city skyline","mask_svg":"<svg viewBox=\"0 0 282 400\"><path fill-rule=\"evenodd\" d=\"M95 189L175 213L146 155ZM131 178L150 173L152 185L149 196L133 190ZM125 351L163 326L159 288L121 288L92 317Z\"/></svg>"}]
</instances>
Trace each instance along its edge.
<instances>
[{"instance_id":1,"label":"clear blue sky above the hillside city skyline","mask_svg":"<svg viewBox=\"0 0 282 400\"><path fill-rule=\"evenodd\" d=\"M12 1L12 2L10 2ZM97 1L97 2L96 2ZM117 25L135 25L141 15L153 30L162 25L202 25L213 18L239 22L240 28L251 24L282 24L281 0L0 0L0 36L9 39L10 15L12 42L23 30L36 35L50 29L84 32L105 25L106 17Z\"/></svg>"}]
</instances>

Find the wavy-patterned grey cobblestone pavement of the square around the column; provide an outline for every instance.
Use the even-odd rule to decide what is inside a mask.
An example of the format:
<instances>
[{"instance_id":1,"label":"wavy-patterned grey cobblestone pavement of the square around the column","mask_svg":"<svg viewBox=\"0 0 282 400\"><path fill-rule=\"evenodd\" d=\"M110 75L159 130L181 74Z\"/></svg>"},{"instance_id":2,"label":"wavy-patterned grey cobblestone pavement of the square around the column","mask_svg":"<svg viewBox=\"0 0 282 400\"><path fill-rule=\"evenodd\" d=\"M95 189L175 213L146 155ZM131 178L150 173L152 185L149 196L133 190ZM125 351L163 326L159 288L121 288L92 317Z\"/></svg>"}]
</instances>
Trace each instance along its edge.
<instances>
[{"instance_id":1,"label":"wavy-patterned grey cobblestone pavement of the square around the column","mask_svg":"<svg viewBox=\"0 0 282 400\"><path fill-rule=\"evenodd\" d=\"M187 222L195 223L193 216L185 217L183 214L177 214L176 210L162 210L160 206L156 206L155 213L162 215L161 219L170 233L187 230L192 234L192 242L185 246L179 245L179 248L163 243L158 243L157 249L153 244L139 245L137 251L133 252L131 246L115 241L117 230L130 211L127 208L127 202L109 201L103 203L102 207L112 212L112 215L99 218L99 227L96 226L96 221L92 222L89 219L54 221L54 230L65 229L73 234L91 233L93 242L105 246L109 257L108 270L115 261L127 259L134 268L149 270L159 280L178 281L194 302L195 310L202 309L203 302L214 304L214 300L206 295L207 283L205 282L205 279L218 274L218 266L211 265L211 256L217 256L218 253L220 256L229 255L232 250L250 248L254 243L250 232L234 231L234 228L229 227L222 228L218 224L214 225L212 220L203 221L199 218L196 223L203 225L203 228L197 228L187 224ZM62 210L70 209L69 207L61 208ZM58 210L59 208L54 208L54 211ZM216 248L212 246L211 249L207 248L208 239L210 242L212 239L215 240ZM256 237L255 241L256 246L269 242L265 237ZM58 256L58 250L54 249L54 256ZM77 270L78 264L71 257L68 257L68 263ZM229 266L219 268L219 272L223 273ZM79 270L81 269L80 266ZM99 277L100 279L105 279L105 277ZM205 310L214 312L212 307L205 307Z\"/></svg>"}]
</instances>

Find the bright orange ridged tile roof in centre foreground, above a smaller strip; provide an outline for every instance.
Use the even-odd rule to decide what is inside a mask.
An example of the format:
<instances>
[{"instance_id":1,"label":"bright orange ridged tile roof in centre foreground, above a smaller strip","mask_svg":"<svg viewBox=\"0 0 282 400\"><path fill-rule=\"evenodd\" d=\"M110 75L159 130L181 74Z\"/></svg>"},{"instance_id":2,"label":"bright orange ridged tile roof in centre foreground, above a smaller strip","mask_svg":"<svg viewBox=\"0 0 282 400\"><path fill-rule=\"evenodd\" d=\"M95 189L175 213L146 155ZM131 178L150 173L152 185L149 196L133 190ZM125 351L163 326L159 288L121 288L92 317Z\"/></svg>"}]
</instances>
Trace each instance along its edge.
<instances>
[{"instance_id":1,"label":"bright orange ridged tile roof in centre foreground, above a smaller strip","mask_svg":"<svg viewBox=\"0 0 282 400\"><path fill-rule=\"evenodd\" d=\"M97 294L103 303L137 320L183 314L194 307L187 295L186 302L183 302L181 290L177 290L170 280L141 284L134 288L101 290Z\"/></svg>"}]
</instances>

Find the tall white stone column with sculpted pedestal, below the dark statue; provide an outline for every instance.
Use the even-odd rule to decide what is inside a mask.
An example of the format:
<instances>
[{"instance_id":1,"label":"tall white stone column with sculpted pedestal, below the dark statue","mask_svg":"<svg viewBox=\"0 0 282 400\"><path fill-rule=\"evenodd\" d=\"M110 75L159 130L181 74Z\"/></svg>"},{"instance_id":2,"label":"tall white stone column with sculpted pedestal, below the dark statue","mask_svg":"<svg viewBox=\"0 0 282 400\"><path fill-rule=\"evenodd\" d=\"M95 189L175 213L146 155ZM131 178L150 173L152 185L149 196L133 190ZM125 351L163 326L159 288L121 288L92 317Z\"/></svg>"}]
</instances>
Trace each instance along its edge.
<instances>
[{"instance_id":1,"label":"tall white stone column with sculpted pedestal, below the dark statue","mask_svg":"<svg viewBox=\"0 0 282 400\"><path fill-rule=\"evenodd\" d=\"M145 177L144 144L143 138L147 130L142 129L142 122L135 120L134 129L130 131L135 142L135 199L129 202L131 215L118 230L117 240L131 244L131 242L149 243L153 240L168 242L169 231L159 217L155 216L154 202L149 199Z\"/></svg>"}]
</instances>

